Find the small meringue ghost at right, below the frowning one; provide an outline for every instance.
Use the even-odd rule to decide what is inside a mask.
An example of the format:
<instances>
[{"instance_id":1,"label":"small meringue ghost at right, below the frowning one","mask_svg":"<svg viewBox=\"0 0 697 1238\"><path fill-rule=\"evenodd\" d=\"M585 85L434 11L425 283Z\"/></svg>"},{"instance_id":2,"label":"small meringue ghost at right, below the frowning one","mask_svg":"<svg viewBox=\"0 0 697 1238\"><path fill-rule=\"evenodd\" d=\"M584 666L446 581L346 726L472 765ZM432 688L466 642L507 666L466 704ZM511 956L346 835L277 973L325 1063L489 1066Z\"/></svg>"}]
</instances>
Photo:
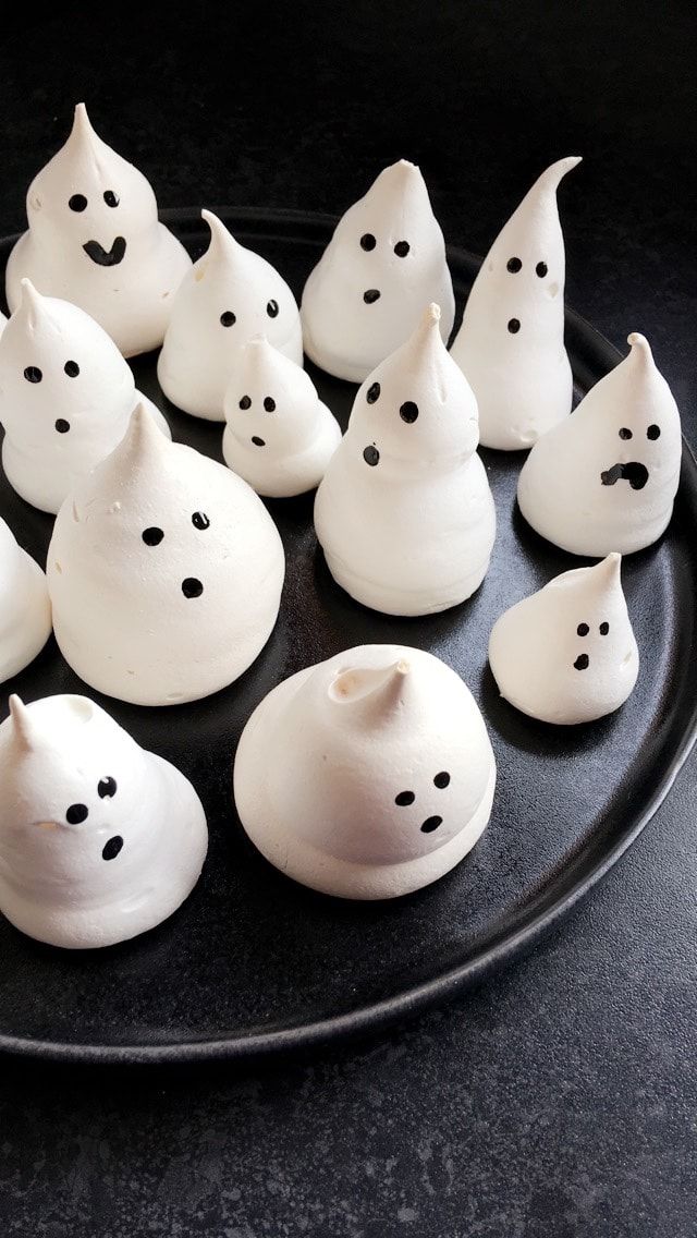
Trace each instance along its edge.
<instances>
[{"instance_id":1,"label":"small meringue ghost at right, below the frowning one","mask_svg":"<svg viewBox=\"0 0 697 1238\"><path fill-rule=\"evenodd\" d=\"M531 718L573 725L613 713L639 675L621 556L577 567L506 610L489 638L501 696Z\"/></svg>"}]
</instances>

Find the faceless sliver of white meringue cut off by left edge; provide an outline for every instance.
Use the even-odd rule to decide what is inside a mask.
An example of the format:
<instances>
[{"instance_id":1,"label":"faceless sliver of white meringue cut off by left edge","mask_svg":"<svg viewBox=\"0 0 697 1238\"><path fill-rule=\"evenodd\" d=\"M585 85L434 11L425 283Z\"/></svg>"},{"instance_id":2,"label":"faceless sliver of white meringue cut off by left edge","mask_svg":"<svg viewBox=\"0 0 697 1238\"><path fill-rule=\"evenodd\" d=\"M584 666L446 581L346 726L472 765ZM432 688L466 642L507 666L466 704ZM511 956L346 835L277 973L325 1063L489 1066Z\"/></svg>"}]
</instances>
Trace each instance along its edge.
<instances>
[{"instance_id":1,"label":"faceless sliver of white meringue cut off by left edge","mask_svg":"<svg viewBox=\"0 0 697 1238\"><path fill-rule=\"evenodd\" d=\"M0 517L0 682L24 671L50 635L46 577Z\"/></svg>"}]
</instances>

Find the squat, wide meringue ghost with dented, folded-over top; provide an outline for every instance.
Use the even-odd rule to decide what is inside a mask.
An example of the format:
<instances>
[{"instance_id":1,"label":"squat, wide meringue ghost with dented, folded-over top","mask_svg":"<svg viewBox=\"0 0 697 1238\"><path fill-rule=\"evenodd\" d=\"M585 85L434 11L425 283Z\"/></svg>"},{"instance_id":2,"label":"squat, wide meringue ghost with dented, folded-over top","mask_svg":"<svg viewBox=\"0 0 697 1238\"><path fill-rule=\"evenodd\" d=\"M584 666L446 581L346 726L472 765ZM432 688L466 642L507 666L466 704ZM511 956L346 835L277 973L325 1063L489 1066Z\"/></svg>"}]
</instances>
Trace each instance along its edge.
<instances>
[{"instance_id":1,"label":"squat, wide meringue ghost with dented, folded-over top","mask_svg":"<svg viewBox=\"0 0 697 1238\"><path fill-rule=\"evenodd\" d=\"M401 645L350 649L279 685L234 768L240 821L266 859L345 899L396 898L448 873L487 826L495 781L469 690Z\"/></svg>"}]
</instances>

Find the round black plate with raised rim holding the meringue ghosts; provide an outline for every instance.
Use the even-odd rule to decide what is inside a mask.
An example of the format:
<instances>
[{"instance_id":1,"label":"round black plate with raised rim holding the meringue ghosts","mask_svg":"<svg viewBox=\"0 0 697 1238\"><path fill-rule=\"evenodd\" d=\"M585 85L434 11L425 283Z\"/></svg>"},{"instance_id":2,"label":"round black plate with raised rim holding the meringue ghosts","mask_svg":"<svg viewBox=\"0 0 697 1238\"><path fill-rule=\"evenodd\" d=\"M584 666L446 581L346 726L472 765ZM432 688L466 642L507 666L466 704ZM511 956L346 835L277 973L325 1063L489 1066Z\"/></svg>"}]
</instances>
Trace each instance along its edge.
<instances>
[{"instance_id":1,"label":"round black plate with raised rim holding the meringue ghosts","mask_svg":"<svg viewBox=\"0 0 697 1238\"><path fill-rule=\"evenodd\" d=\"M222 210L238 238L270 259L297 296L333 223L295 212ZM207 244L196 212L165 214L194 256ZM0 243L6 260L14 238ZM449 250L458 308L478 261ZM619 355L567 312L577 394ZM155 357L137 385L166 409L175 438L222 459L222 426L167 406ZM345 425L354 387L311 368ZM515 508L521 456L482 452L499 531L479 593L446 614L395 620L353 603L329 577L312 529L312 498L270 503L287 553L279 624L250 671L197 704L142 709L88 691L144 747L175 761L203 799L210 851L184 906L158 928L103 951L41 946L0 917L0 1047L82 1061L248 1057L378 1028L439 1002L529 947L636 838L669 791L697 722L697 465L687 447L671 527L624 563L641 654L635 692L613 717L552 728L498 697L487 641L498 615L581 560L537 537ZM41 563L52 521L0 480L0 514ZM395 641L454 666L479 701L499 766L491 823L474 852L435 886L394 903L313 894L254 851L232 803L232 759L253 708L281 678L342 649ZM53 643L11 683L32 701L85 691ZM641 909L636 909L638 920Z\"/></svg>"}]
</instances>

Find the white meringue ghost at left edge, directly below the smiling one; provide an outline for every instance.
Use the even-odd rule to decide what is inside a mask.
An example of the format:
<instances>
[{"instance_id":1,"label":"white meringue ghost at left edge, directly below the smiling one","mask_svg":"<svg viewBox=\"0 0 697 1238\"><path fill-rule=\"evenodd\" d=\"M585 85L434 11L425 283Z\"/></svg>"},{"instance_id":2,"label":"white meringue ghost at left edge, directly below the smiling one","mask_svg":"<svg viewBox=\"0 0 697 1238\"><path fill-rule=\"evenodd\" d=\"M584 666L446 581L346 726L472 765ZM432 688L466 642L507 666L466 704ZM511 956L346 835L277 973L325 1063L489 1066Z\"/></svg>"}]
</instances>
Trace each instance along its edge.
<instances>
[{"instance_id":1,"label":"white meringue ghost at left edge, directly below the smiling one","mask_svg":"<svg viewBox=\"0 0 697 1238\"><path fill-rule=\"evenodd\" d=\"M0 337L2 464L17 494L56 515L79 478L121 442L139 401L170 437L94 318L22 280L20 305Z\"/></svg>"}]
</instances>

